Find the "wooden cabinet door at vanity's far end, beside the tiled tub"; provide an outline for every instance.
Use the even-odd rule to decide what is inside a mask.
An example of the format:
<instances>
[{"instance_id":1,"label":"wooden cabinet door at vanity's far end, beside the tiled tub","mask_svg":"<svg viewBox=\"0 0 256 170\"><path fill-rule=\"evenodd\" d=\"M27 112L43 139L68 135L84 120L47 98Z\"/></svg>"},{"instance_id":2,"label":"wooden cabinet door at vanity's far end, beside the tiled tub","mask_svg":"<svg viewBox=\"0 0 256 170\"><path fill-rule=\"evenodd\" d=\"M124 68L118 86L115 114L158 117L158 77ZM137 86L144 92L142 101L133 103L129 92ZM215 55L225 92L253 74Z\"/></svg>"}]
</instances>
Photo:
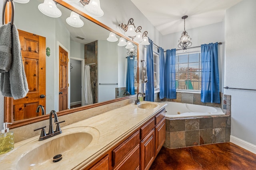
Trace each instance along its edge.
<instances>
[{"instance_id":1,"label":"wooden cabinet door at vanity's far end, beside the tiled tub","mask_svg":"<svg viewBox=\"0 0 256 170\"><path fill-rule=\"evenodd\" d=\"M156 126L156 155L164 145L164 141L166 139L165 134L165 119L163 119L157 126ZM156 156L155 155L155 156Z\"/></svg>"}]
</instances>

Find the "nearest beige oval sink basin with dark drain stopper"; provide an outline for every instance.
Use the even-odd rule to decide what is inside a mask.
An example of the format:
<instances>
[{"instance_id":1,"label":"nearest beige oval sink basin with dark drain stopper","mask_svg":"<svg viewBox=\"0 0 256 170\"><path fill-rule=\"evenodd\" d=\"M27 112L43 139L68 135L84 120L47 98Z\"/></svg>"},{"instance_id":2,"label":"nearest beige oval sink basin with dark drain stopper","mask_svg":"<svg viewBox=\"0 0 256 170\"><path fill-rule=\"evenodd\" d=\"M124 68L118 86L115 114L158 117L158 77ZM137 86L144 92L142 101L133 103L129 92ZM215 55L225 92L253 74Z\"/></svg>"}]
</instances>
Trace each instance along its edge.
<instances>
[{"instance_id":1,"label":"nearest beige oval sink basin with dark drain stopper","mask_svg":"<svg viewBox=\"0 0 256 170\"><path fill-rule=\"evenodd\" d=\"M22 154L16 164L17 170L49 169L57 166L58 169L65 164L71 164L77 156L86 150L90 143L95 143L99 138L99 132L92 127L74 127L62 130L62 134L44 141L33 141L21 146L30 147ZM26 150L26 149L25 149ZM59 162L53 162L53 157L61 154ZM80 156L80 155L79 155Z\"/></svg>"}]
</instances>

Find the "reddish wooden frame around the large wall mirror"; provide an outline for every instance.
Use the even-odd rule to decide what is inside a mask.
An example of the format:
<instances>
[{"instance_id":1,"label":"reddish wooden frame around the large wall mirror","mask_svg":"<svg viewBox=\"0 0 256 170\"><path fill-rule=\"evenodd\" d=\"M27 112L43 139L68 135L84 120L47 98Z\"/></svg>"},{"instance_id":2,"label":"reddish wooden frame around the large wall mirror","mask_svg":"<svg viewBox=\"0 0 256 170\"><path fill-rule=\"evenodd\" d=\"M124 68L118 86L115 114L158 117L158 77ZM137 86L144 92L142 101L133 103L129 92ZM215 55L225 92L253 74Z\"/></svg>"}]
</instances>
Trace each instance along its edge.
<instances>
[{"instance_id":1,"label":"reddish wooden frame around the large wall mirror","mask_svg":"<svg viewBox=\"0 0 256 170\"><path fill-rule=\"evenodd\" d=\"M80 16L82 16L82 17L100 25L101 27L103 27L105 29L108 29L109 31L115 33L116 35L118 35L120 37L123 37L127 41L131 41L132 43L137 45L137 61L139 61L139 45L138 45L138 43L132 41L128 37L122 35L121 33L115 31L114 29L108 27L107 25L101 23L100 21L92 18L91 16L88 16L84 12L74 8L73 6L68 4L67 2L64 2L62 0L54 0L54 1L57 2L58 4L64 6L64 7L66 7L66 8L76 12L77 14L80 14ZM6 23L8 23L8 21L10 21L11 15L12 15L10 2L7 2L5 10L6 10L5 21L6 21ZM14 21L15 21L15 18L14 18ZM139 77L139 62L137 62L137 79L138 79L138 77ZM138 86L138 81L137 81L137 87L139 87ZM137 94L138 94L138 92L139 92L139 90L137 88ZM82 110L85 110L85 109L90 109L90 108L93 108L93 107L103 106L103 105L106 105L106 104L110 104L110 103L118 102L118 101L121 101L121 100L133 98L135 96L136 96L136 94L131 95L131 96L122 97L122 98L116 98L116 99L113 99L113 100L108 100L108 101L100 102L100 103L96 103L96 104L90 104L90 105L87 105L87 106L81 106L81 107L76 107L76 108L67 109L67 110L63 110L63 111L58 111L57 114L58 114L58 116L67 115L67 114L74 113L74 112L77 112L77 111L82 111ZM49 115L46 114L46 115L41 115L41 116L38 116L38 117L33 117L33 118L30 118L30 119L24 119L24 120L13 122L12 121L13 120L13 114L12 114L13 113L13 107L12 107L13 103L12 103L12 101L13 101L12 98L4 97L4 122L12 123L10 125L10 129L49 119Z\"/></svg>"}]
</instances>

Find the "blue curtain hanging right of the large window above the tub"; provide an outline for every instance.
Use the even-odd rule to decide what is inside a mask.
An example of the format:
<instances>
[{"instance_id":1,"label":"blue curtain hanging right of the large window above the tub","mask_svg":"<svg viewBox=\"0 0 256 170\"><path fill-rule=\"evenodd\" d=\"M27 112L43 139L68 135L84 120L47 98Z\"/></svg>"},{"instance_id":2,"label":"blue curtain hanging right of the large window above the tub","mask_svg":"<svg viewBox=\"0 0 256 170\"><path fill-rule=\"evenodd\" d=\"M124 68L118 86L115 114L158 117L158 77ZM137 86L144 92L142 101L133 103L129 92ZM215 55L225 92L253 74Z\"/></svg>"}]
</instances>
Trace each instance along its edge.
<instances>
[{"instance_id":1,"label":"blue curtain hanging right of the large window above the tub","mask_svg":"<svg viewBox=\"0 0 256 170\"><path fill-rule=\"evenodd\" d=\"M218 43L201 45L202 87L201 102L220 103Z\"/></svg>"}]
</instances>

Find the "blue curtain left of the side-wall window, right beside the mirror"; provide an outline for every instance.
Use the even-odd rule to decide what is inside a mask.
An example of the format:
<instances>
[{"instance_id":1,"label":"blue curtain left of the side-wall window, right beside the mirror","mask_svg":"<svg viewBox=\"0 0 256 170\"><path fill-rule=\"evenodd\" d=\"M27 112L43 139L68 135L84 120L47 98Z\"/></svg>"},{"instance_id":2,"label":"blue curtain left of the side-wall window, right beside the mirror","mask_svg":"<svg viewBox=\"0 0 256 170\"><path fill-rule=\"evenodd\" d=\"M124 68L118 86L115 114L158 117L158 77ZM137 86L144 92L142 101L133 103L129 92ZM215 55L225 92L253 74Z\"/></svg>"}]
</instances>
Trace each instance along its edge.
<instances>
[{"instance_id":1,"label":"blue curtain left of the side-wall window, right beside the mirror","mask_svg":"<svg viewBox=\"0 0 256 170\"><path fill-rule=\"evenodd\" d=\"M153 41L149 39L146 50L148 82L146 83L146 101L154 102L154 61L153 61Z\"/></svg>"}]
</instances>

